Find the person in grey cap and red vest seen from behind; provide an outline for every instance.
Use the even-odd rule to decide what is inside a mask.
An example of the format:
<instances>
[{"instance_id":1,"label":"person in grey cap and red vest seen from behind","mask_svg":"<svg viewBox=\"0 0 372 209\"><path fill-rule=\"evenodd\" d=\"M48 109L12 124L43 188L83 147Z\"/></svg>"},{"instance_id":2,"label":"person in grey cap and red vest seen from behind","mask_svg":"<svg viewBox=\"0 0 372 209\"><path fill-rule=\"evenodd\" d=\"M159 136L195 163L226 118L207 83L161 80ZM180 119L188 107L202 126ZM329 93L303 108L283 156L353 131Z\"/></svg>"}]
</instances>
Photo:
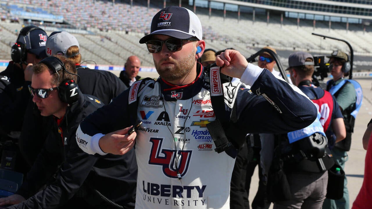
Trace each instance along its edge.
<instances>
[{"instance_id":1,"label":"person in grey cap and red vest seen from behind","mask_svg":"<svg viewBox=\"0 0 372 209\"><path fill-rule=\"evenodd\" d=\"M341 140L346 135L345 128L334 97L311 83L311 76L314 73L312 55L307 52L294 52L289 56L288 62L292 82L315 103L320 120L312 124L309 132L304 131L304 133L309 133L305 138L303 135L295 134L297 131L276 136L279 137L277 139L279 145L275 150L276 158L273 160L273 165L277 166L275 162L278 158L282 160L288 181L286 186L289 187L286 193L290 195L276 199L274 208L321 208L327 193L327 170L334 164L334 160L328 155L330 151L324 132L330 132L330 129L333 129L337 139ZM296 139L298 141L295 141ZM269 183L272 184L270 180Z\"/></svg>"}]
</instances>

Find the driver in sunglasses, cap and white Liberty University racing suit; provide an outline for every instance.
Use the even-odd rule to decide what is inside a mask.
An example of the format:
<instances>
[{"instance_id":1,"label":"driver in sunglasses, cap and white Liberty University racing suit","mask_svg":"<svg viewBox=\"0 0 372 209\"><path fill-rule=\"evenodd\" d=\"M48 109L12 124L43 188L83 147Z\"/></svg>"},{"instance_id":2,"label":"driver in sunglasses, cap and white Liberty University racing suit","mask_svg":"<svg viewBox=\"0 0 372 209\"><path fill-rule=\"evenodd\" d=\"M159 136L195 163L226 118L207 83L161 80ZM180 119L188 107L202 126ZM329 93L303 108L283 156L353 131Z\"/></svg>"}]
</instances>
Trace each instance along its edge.
<instances>
[{"instance_id":1,"label":"driver in sunglasses, cap and white Liberty University racing suit","mask_svg":"<svg viewBox=\"0 0 372 209\"><path fill-rule=\"evenodd\" d=\"M80 148L89 154L126 155L135 145L136 208L227 209L237 154L232 143L238 148L243 140L228 142L224 135L243 139L247 132L294 131L316 118L315 106L298 89L248 64L238 51L218 55L221 68L212 67L211 79L205 80L197 62L205 49L202 37L201 22L190 10L160 10L151 33L140 39L160 77L136 81L84 119L76 132L87 142ZM219 69L251 90L243 83L221 84ZM226 124L225 133L216 128L216 116ZM125 127L138 121L142 125L128 134Z\"/></svg>"}]
</instances>

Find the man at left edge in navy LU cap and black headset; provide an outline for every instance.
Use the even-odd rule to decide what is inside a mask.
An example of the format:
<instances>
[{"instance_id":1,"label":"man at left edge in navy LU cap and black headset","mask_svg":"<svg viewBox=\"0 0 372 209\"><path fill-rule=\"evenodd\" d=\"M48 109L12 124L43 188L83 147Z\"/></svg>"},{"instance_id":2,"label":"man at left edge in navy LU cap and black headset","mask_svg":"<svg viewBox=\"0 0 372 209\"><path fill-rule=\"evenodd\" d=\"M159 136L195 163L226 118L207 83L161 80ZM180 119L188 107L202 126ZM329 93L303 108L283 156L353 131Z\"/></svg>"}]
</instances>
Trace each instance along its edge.
<instances>
[{"instance_id":1,"label":"man at left edge in navy LU cap and black headset","mask_svg":"<svg viewBox=\"0 0 372 209\"><path fill-rule=\"evenodd\" d=\"M31 84L32 70L29 66L38 63L45 55L47 33L37 26L26 26L20 30L16 43L11 48L7 68L0 73L0 141L19 139L23 115L30 98L28 85ZM13 158L15 156L8 156ZM20 155L10 164L1 168L25 173L27 166Z\"/></svg>"}]
</instances>

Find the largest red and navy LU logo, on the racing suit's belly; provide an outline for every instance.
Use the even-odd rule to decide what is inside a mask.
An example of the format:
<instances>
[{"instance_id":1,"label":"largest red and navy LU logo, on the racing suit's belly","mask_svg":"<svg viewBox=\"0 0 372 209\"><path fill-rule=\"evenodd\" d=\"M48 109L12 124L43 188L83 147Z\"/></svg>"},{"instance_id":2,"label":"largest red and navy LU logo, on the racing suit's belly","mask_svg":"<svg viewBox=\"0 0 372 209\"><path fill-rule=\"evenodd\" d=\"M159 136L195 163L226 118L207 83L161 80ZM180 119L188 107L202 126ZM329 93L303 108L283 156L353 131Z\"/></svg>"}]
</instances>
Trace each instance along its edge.
<instances>
[{"instance_id":1,"label":"largest red and navy LU logo, on the racing suit's belly","mask_svg":"<svg viewBox=\"0 0 372 209\"><path fill-rule=\"evenodd\" d=\"M178 178L177 168L181 176L184 176L187 173L192 150L161 149L161 143L163 142L162 138L151 137L150 142L153 145L150 151L148 164L161 165L163 173L170 178ZM179 159L176 161L177 156ZM178 163L177 168L176 162Z\"/></svg>"}]
</instances>

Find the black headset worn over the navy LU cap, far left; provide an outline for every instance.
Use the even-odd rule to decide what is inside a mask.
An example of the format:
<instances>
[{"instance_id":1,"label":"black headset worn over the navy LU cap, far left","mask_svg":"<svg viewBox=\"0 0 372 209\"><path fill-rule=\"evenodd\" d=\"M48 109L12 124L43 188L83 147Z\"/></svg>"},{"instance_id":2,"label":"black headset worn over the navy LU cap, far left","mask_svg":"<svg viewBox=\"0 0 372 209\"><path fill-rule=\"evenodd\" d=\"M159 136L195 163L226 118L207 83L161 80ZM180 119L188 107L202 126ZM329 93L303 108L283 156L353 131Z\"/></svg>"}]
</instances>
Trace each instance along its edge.
<instances>
[{"instance_id":1,"label":"black headset worn over the navy LU cap, far left","mask_svg":"<svg viewBox=\"0 0 372 209\"><path fill-rule=\"evenodd\" d=\"M27 50L26 50L26 45L30 43L30 37L28 37L28 40L26 41L26 36L32 31L32 30L42 30L43 29L39 28L38 26L35 25L29 25L24 28L22 28L19 32L17 42L12 46L11 52L10 52L10 57L12 57L13 62L19 63L19 64L27 64ZM45 31L44 31L45 32ZM23 42L19 42L19 39L23 38ZM31 44L31 43L30 43Z\"/></svg>"}]
</instances>

